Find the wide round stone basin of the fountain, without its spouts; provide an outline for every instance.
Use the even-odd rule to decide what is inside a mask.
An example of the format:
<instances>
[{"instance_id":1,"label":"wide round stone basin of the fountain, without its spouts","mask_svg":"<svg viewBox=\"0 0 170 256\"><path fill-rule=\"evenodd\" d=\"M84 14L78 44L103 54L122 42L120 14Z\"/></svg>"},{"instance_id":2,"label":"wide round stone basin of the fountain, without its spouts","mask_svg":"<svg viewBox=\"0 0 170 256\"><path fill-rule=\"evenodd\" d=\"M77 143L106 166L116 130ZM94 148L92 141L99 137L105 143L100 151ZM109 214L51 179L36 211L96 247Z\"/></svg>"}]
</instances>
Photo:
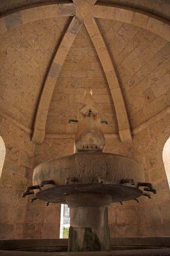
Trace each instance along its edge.
<instances>
[{"instance_id":1,"label":"wide round stone basin of the fountain, without its spouts","mask_svg":"<svg viewBox=\"0 0 170 256\"><path fill-rule=\"evenodd\" d=\"M134 185L123 179L134 180ZM33 185L45 180L54 184L34 189L36 197L44 201L65 203L66 195L90 192L109 194L112 202L123 202L142 195L137 184L144 182L144 168L123 155L82 152L39 164L33 172Z\"/></svg>"}]
</instances>

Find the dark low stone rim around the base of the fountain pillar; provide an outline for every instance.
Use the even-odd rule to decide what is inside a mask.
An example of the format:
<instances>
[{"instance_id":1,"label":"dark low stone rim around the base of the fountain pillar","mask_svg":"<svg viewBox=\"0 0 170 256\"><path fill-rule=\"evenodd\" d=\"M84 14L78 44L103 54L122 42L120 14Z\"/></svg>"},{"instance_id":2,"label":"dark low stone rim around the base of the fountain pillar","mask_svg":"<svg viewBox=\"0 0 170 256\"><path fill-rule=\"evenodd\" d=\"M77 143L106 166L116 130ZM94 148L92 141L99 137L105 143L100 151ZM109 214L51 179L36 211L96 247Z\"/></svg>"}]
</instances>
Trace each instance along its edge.
<instances>
[{"instance_id":1,"label":"dark low stone rim around the base of the fountain pillar","mask_svg":"<svg viewBox=\"0 0 170 256\"><path fill-rule=\"evenodd\" d=\"M169 236L114 237L110 252L66 252L67 244L68 239L0 240L0 256L170 256Z\"/></svg>"}]
</instances>

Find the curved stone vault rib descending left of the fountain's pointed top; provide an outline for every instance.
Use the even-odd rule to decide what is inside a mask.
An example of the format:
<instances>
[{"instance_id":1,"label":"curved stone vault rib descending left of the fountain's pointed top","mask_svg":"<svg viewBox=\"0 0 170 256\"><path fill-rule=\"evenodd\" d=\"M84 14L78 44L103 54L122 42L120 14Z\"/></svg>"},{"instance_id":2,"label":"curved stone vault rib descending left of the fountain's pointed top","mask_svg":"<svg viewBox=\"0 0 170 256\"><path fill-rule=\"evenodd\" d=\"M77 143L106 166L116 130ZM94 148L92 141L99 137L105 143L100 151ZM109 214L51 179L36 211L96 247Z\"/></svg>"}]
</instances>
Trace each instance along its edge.
<instances>
[{"instance_id":1,"label":"curved stone vault rib descending left of the fountain's pointed top","mask_svg":"<svg viewBox=\"0 0 170 256\"><path fill-rule=\"evenodd\" d=\"M70 47L78 34L80 27L83 25L83 21L78 17L73 17L72 21L67 28L63 39L56 51L56 54L52 60L52 65L46 77L44 88L39 99L39 106L37 114L34 120L32 141L34 143L42 143L45 136L46 118L48 115L48 109L52 99L52 93L55 87L56 80L59 76L61 67L65 61L65 57L68 54Z\"/></svg>"}]
</instances>

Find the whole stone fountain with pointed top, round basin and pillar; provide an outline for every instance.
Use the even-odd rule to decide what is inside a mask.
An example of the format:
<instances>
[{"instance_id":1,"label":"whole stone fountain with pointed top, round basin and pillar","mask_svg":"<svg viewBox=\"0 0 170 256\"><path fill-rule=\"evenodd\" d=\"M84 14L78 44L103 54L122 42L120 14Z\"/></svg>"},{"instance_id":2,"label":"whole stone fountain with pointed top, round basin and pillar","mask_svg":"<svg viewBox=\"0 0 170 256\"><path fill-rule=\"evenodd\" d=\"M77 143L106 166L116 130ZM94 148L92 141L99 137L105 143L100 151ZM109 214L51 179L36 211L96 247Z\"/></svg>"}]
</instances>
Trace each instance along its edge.
<instances>
[{"instance_id":1,"label":"whole stone fountain with pointed top, round basin and pillar","mask_svg":"<svg viewBox=\"0 0 170 256\"><path fill-rule=\"evenodd\" d=\"M39 164L33 171L33 186L27 187L31 199L67 204L70 208L68 251L109 251L108 206L114 202L136 200L157 193L144 182L143 165L123 155L103 153L105 137L99 112L86 90L78 112L75 153Z\"/></svg>"}]
</instances>

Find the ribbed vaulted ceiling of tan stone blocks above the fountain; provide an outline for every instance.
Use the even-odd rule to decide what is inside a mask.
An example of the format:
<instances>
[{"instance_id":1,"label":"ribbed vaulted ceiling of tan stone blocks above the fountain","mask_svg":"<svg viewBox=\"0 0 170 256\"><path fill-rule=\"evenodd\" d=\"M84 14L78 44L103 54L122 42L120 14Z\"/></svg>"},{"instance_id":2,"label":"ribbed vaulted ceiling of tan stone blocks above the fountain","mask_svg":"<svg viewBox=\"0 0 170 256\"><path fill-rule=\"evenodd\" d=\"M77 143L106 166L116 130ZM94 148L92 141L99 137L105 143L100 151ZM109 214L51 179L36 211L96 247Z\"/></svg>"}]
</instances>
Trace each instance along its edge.
<instances>
[{"instance_id":1,"label":"ribbed vaulted ceiling of tan stone blocks above the fountain","mask_svg":"<svg viewBox=\"0 0 170 256\"><path fill-rule=\"evenodd\" d=\"M33 142L75 134L68 120L78 118L85 88L109 122L104 133L122 142L170 105L168 1L17 4L1 6L0 103Z\"/></svg>"}]
</instances>

